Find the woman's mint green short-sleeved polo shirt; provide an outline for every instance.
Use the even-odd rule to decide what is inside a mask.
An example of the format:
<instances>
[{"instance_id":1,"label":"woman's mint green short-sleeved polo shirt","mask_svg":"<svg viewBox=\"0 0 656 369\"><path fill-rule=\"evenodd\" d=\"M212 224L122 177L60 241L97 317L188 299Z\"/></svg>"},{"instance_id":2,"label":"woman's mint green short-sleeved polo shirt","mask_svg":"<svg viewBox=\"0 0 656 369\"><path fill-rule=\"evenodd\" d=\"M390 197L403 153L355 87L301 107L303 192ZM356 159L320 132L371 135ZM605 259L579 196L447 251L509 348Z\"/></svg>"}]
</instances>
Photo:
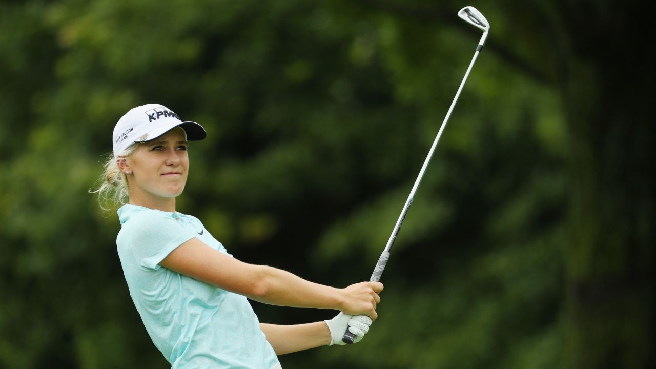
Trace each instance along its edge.
<instances>
[{"instance_id":1,"label":"woman's mint green short-sleeved polo shirt","mask_svg":"<svg viewBox=\"0 0 656 369\"><path fill-rule=\"evenodd\" d=\"M116 246L130 296L172 369L280 367L246 297L159 265L194 237L230 255L203 223L134 205L117 213L121 231Z\"/></svg>"}]
</instances>

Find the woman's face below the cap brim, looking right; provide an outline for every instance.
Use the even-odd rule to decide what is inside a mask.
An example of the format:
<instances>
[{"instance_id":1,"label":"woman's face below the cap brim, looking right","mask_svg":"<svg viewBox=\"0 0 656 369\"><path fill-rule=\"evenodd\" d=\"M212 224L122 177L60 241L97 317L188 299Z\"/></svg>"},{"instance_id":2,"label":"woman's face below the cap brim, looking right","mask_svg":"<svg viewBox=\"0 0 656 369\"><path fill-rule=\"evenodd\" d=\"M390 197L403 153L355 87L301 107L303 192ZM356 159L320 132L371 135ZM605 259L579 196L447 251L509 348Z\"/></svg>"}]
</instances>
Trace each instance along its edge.
<instances>
[{"instance_id":1,"label":"woman's face below the cap brim, looking right","mask_svg":"<svg viewBox=\"0 0 656 369\"><path fill-rule=\"evenodd\" d=\"M189 169L184 131L176 127L157 139L139 144L128 163L131 196L133 191L139 198L153 200L180 195Z\"/></svg>"}]
</instances>

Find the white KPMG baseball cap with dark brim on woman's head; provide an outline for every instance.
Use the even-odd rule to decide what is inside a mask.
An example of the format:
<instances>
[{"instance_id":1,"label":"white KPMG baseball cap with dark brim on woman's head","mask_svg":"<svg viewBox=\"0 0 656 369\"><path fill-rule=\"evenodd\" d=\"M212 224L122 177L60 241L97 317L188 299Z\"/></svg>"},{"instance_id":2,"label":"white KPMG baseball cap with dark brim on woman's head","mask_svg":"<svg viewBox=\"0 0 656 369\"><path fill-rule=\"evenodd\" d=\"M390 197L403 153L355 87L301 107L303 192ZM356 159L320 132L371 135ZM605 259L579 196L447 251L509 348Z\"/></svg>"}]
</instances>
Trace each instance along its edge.
<instances>
[{"instance_id":1,"label":"white KPMG baseball cap with dark brim on woman's head","mask_svg":"<svg viewBox=\"0 0 656 369\"><path fill-rule=\"evenodd\" d=\"M114 156L120 156L134 142L145 142L181 127L188 141L201 141L207 133L194 121L182 121L178 114L160 104L146 104L132 108L114 127L112 144Z\"/></svg>"}]
</instances>

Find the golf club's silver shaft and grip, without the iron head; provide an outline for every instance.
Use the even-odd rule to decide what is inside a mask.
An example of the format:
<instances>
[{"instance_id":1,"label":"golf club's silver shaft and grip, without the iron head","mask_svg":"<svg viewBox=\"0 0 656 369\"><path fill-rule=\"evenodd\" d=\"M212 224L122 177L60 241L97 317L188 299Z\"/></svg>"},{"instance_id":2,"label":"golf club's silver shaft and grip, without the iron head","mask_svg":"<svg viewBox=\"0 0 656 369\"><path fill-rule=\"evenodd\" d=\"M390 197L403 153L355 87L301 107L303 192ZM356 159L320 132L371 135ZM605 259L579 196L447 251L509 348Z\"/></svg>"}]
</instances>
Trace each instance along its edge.
<instances>
[{"instance_id":1,"label":"golf club's silver shaft and grip, without the iron head","mask_svg":"<svg viewBox=\"0 0 656 369\"><path fill-rule=\"evenodd\" d=\"M419 171L419 175L417 176L415 185L412 187L412 190L410 191L410 195L408 196L407 200L405 200L405 205L403 206L403 210L401 210L401 215L399 215L399 219L396 221L396 225L394 225L394 230L392 230L390 239L387 241L385 249L380 254L378 263L376 263L376 267L374 268L373 273L371 274L371 278L369 278L370 282L378 282L378 280L380 280L380 276L382 275L382 272L385 269L385 265L387 264L387 259L390 257L390 250L392 250L392 245L394 245L396 236L398 235L399 230L401 229L401 225L403 225L403 220L405 220L405 215L407 215L408 209L412 205L413 200L415 198L415 192L417 192L417 188L419 188L421 179L424 177L424 173L426 172L426 167L428 167L428 163L430 163L430 159L433 157L433 152L435 151L435 148L438 146L438 142L440 141L440 137L442 135L442 132L444 131L444 127L446 127L447 121L449 121L449 117L451 117L451 112L453 112L453 107L455 106L455 103L458 101L458 97L460 97L460 93L462 92L462 87L464 87L464 83L467 81L467 77L469 77L469 73L472 71L472 67L476 62L476 58L478 58L478 54L480 53L481 49L482 49L482 43L478 45L478 47L476 48L476 53L474 53L472 62L469 63L469 68L467 68L467 72L465 72L464 77L462 78L460 87L458 87L458 91L457 93L455 93L455 97L451 102L451 106L449 106L449 111L447 112L447 115L444 117L444 121L442 121L442 125L440 126L440 131L438 131L438 135L435 137L435 141L433 141L433 145L430 147L430 151L428 151L428 156L426 156L426 160L424 160L424 165L422 165L421 170ZM349 332L347 328L342 340L345 343L350 344L353 343L354 337L355 337L354 334Z\"/></svg>"}]
</instances>

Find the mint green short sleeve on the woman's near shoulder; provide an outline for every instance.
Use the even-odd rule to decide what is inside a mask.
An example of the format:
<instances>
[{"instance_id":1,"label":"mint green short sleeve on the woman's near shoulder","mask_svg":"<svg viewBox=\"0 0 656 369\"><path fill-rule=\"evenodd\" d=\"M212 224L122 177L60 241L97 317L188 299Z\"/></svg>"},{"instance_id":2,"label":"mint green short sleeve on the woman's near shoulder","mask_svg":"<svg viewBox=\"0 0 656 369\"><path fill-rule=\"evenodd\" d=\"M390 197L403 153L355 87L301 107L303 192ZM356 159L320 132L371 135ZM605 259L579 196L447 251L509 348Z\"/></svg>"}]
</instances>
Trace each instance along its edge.
<instances>
[{"instance_id":1,"label":"mint green short sleeve on the woman's near shoulder","mask_svg":"<svg viewBox=\"0 0 656 369\"><path fill-rule=\"evenodd\" d=\"M142 211L127 224L124 240L129 243L140 267L159 269L171 251L196 234L179 221L159 211Z\"/></svg>"}]
</instances>

